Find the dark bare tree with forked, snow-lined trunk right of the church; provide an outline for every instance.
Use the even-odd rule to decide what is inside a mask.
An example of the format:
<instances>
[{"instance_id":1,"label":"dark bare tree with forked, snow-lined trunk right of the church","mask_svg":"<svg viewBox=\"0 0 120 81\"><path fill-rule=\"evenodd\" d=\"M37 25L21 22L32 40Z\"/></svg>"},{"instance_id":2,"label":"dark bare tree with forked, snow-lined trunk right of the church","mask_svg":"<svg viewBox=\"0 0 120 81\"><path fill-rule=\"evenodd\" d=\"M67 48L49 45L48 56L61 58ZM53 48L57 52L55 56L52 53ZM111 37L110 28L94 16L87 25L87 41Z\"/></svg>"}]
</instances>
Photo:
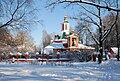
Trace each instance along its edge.
<instances>
[{"instance_id":1,"label":"dark bare tree with forked, snow-lined trunk right of the church","mask_svg":"<svg viewBox=\"0 0 120 81\"><path fill-rule=\"evenodd\" d=\"M110 0L110 1L109 0L103 0L103 1L102 0L86 0L86 1L85 0L55 0L55 1L52 0L52 2L50 2L48 7L50 6L50 7L54 8L58 4L62 4L62 3L67 3L66 7L68 7L72 4L79 5L80 7L82 7L85 11L87 11L87 13L86 12L83 13L84 18L82 18L80 20L84 19L86 22L93 23L99 29L99 40L98 40L95 38L95 36L94 36L93 32L90 30L90 28L87 27L88 31L92 35L96 44L99 46L99 51L100 51L99 63L101 63L102 56L103 56L103 41L109 35L112 28L116 24L117 18L118 18L118 12L120 11L120 9L118 8L118 0ZM87 6L90 8L92 7L92 8L90 9ZM93 11L93 9L95 12ZM114 17L114 20L113 20L111 26L105 32L103 32L104 25L103 25L103 21L102 21L102 17L103 17L102 15L105 14L105 13L103 13L103 11L104 12L107 11L107 13L109 13L110 11L114 11L114 13L116 13L116 16ZM89 15L88 15L88 13L89 13Z\"/></svg>"}]
</instances>

